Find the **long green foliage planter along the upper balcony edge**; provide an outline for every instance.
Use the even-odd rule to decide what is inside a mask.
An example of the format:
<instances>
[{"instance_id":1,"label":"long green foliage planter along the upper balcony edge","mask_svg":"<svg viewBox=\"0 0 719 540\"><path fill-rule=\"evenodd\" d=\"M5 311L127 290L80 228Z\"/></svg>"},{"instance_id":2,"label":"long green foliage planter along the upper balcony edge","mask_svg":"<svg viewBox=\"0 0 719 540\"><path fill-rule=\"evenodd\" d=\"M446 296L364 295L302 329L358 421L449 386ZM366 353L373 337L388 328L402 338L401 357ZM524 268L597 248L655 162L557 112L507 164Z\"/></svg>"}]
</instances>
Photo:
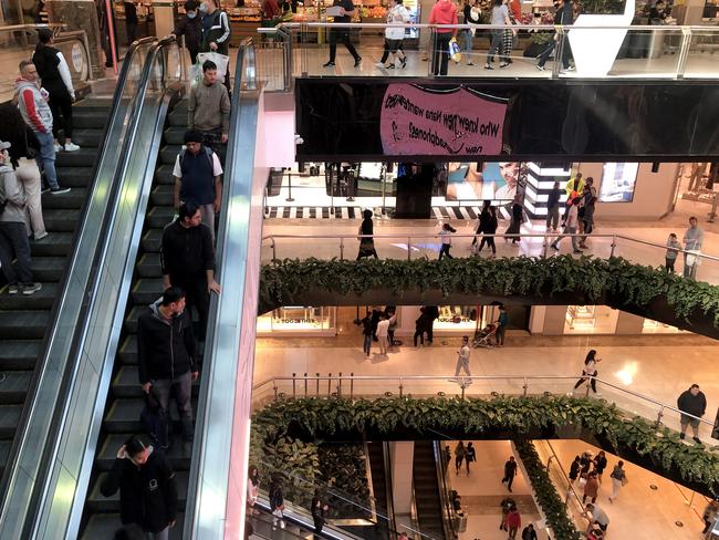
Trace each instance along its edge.
<instances>
[{"instance_id":1,"label":"long green foliage planter along the upper balcony edge","mask_svg":"<svg viewBox=\"0 0 719 540\"><path fill-rule=\"evenodd\" d=\"M273 309L308 290L362 295L373 289L388 289L395 294L440 290L445 295L536 299L571 292L577 295L577 301L587 303L602 303L608 293L614 299L609 305L617 309L643 307L666 298L678 318L686 319L699 310L719 328L719 287L618 257L607 260L571 256L410 261L284 259L262 267L260 304Z\"/></svg>"}]
</instances>

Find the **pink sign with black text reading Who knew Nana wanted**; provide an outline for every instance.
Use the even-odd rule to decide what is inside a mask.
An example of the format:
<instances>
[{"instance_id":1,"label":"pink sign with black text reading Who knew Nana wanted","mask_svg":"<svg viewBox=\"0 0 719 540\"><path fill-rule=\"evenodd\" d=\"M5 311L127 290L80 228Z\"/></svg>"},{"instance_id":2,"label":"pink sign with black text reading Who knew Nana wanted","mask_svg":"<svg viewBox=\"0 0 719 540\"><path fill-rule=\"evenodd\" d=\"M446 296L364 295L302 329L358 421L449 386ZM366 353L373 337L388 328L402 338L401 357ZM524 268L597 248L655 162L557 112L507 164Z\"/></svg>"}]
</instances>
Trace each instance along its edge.
<instances>
[{"instance_id":1,"label":"pink sign with black text reading Who knew Nana wanted","mask_svg":"<svg viewBox=\"0 0 719 540\"><path fill-rule=\"evenodd\" d=\"M382 103L382 146L395 156L498 155L506 114L506 100L465 87L389 84Z\"/></svg>"}]
</instances>

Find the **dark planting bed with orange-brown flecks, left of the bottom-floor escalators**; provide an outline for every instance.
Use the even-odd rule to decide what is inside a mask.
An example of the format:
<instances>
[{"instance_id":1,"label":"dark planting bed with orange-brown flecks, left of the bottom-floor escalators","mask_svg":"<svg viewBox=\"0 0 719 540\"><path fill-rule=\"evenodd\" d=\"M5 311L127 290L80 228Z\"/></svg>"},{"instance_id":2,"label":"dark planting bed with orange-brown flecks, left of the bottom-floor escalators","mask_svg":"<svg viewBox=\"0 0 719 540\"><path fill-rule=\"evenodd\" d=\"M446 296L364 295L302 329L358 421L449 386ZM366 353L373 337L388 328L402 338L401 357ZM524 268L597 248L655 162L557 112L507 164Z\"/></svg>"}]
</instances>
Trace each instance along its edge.
<instances>
[{"instance_id":1,"label":"dark planting bed with orange-brown flecks, left of the bottom-floor escalators","mask_svg":"<svg viewBox=\"0 0 719 540\"><path fill-rule=\"evenodd\" d=\"M369 512L367 467L361 444L321 444L317 447L320 470L317 480L327 491L334 518L365 518Z\"/></svg>"}]
</instances>

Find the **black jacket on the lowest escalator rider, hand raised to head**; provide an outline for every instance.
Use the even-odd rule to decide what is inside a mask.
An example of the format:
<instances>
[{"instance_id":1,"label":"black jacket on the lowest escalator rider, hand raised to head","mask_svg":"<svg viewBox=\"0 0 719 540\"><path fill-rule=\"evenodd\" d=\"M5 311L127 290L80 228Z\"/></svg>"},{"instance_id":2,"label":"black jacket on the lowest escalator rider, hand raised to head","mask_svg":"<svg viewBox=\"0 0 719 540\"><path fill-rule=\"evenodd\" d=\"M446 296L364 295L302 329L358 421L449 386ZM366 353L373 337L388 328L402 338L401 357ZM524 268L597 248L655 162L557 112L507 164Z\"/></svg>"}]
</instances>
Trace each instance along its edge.
<instances>
[{"instance_id":1,"label":"black jacket on the lowest escalator rider, hand raised to head","mask_svg":"<svg viewBox=\"0 0 719 540\"><path fill-rule=\"evenodd\" d=\"M119 489L123 525L137 523L144 531L159 532L177 517L175 472L156 453L138 467L129 458L115 459L100 491L112 497Z\"/></svg>"}]
</instances>

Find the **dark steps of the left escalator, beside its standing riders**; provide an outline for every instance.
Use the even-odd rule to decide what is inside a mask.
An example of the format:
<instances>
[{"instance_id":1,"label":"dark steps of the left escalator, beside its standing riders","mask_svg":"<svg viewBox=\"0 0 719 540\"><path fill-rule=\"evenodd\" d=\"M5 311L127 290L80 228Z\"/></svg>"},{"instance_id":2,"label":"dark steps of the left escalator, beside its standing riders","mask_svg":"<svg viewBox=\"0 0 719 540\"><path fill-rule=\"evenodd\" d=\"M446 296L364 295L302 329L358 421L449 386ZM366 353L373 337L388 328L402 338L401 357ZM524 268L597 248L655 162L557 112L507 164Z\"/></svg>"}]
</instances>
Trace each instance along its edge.
<instances>
[{"instance_id":1,"label":"dark steps of the left escalator, beside its standing riders","mask_svg":"<svg viewBox=\"0 0 719 540\"><path fill-rule=\"evenodd\" d=\"M56 169L67 194L42 196L48 236L31 240L32 271L42 289L32 295L9 295L0 291L0 468L4 471L12 440L21 419L38 355L42 352L53 305L67 271L77 224L93 180L93 170L111 98L90 97L73 105L73 142L81 149L60 152Z\"/></svg>"}]
</instances>

